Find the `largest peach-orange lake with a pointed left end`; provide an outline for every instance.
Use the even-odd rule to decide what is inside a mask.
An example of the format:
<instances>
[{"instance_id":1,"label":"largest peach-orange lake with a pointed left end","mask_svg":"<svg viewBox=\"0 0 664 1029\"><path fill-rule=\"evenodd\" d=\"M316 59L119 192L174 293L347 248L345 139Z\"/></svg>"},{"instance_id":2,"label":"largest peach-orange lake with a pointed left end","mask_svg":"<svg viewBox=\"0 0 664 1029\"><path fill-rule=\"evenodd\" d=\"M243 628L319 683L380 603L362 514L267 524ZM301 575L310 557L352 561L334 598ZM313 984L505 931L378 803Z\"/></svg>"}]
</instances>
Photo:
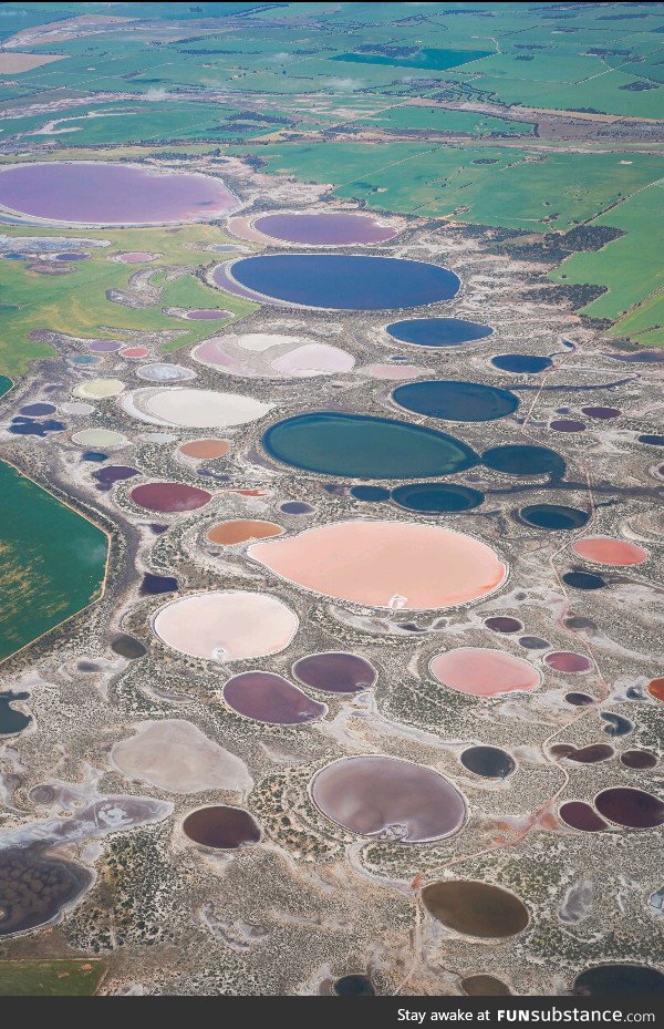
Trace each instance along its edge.
<instances>
[{"instance_id":1,"label":"largest peach-orange lake with a pointed left end","mask_svg":"<svg viewBox=\"0 0 664 1029\"><path fill-rule=\"evenodd\" d=\"M334 522L249 557L298 586L367 607L425 610L492 593L507 567L479 539L407 522Z\"/></svg>"}]
</instances>

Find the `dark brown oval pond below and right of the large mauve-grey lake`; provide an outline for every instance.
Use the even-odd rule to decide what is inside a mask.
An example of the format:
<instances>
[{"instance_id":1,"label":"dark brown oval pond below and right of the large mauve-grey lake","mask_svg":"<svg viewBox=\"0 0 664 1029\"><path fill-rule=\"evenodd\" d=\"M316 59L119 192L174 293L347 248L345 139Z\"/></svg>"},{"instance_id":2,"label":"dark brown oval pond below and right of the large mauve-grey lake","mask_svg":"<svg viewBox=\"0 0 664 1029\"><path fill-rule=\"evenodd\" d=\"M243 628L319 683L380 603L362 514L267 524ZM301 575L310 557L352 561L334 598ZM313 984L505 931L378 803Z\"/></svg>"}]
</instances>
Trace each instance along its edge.
<instances>
[{"instance_id":1,"label":"dark brown oval pond below and right of the large mauve-grey lake","mask_svg":"<svg viewBox=\"0 0 664 1029\"><path fill-rule=\"evenodd\" d=\"M443 925L480 939L516 936L529 922L528 908L519 897L489 883L458 879L433 883L424 887L422 899Z\"/></svg>"}]
</instances>

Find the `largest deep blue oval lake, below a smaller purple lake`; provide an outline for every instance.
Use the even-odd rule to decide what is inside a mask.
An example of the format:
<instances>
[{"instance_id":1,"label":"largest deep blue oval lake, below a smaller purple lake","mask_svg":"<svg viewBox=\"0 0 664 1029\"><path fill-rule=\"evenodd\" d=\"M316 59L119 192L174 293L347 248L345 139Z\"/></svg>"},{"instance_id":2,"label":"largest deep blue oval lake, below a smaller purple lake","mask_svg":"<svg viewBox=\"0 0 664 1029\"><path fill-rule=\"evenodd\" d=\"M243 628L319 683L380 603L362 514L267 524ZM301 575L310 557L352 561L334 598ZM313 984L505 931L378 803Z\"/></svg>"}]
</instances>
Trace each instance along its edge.
<instances>
[{"instance_id":1,"label":"largest deep blue oval lake, below a smaller purple lake","mask_svg":"<svg viewBox=\"0 0 664 1029\"><path fill-rule=\"evenodd\" d=\"M272 254L236 261L231 275L263 297L301 307L380 311L450 300L459 279L447 268L395 257Z\"/></svg>"}]
</instances>

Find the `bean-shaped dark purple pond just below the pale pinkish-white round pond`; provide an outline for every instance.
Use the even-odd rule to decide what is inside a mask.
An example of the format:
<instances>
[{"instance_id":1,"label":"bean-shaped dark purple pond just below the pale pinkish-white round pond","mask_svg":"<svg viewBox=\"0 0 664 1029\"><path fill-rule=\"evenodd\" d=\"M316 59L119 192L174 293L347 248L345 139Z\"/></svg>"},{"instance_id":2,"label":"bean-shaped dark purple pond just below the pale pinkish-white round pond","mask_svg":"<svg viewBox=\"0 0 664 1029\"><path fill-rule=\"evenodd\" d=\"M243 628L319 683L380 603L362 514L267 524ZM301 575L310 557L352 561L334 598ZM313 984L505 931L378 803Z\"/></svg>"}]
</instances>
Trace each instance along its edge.
<instances>
[{"instance_id":1,"label":"bean-shaped dark purple pond just below the pale pinkish-white round pond","mask_svg":"<svg viewBox=\"0 0 664 1029\"><path fill-rule=\"evenodd\" d=\"M324 703L311 700L288 679L271 671L234 676L224 687L224 699L238 714L272 726L300 726L322 718L326 711Z\"/></svg>"}]
</instances>

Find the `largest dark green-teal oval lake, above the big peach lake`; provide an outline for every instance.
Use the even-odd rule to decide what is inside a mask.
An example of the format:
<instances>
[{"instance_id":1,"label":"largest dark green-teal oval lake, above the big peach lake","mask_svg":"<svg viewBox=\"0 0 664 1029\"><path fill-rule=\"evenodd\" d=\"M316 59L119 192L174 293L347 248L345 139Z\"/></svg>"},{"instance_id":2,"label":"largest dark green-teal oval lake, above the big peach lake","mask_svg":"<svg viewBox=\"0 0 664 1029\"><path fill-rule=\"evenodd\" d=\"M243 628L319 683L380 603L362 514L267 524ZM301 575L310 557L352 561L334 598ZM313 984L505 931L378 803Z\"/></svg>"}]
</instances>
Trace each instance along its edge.
<instances>
[{"instance_id":1,"label":"largest dark green-teal oval lake, above the big peach lake","mask_svg":"<svg viewBox=\"0 0 664 1029\"><path fill-rule=\"evenodd\" d=\"M332 411L277 422L262 444L284 464L357 479L452 475L478 461L469 446L436 429Z\"/></svg>"}]
</instances>

